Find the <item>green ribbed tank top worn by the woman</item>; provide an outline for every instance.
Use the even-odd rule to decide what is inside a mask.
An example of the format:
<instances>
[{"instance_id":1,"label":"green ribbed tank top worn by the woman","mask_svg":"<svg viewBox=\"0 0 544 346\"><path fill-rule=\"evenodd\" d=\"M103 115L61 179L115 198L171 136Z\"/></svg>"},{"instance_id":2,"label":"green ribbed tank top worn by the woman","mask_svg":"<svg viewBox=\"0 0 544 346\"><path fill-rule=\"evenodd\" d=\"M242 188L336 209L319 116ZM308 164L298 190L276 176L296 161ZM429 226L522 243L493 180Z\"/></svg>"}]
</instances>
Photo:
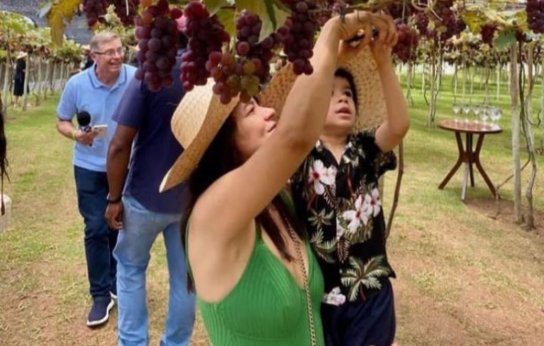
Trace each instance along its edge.
<instances>
[{"instance_id":1,"label":"green ribbed tank top worn by the woman","mask_svg":"<svg viewBox=\"0 0 544 346\"><path fill-rule=\"evenodd\" d=\"M317 345L324 346L321 298L324 280L309 243L309 290ZM190 273L190 265L187 266ZM309 321L304 289L268 249L256 229L252 255L242 277L220 302L196 303L213 346L309 346Z\"/></svg>"}]
</instances>

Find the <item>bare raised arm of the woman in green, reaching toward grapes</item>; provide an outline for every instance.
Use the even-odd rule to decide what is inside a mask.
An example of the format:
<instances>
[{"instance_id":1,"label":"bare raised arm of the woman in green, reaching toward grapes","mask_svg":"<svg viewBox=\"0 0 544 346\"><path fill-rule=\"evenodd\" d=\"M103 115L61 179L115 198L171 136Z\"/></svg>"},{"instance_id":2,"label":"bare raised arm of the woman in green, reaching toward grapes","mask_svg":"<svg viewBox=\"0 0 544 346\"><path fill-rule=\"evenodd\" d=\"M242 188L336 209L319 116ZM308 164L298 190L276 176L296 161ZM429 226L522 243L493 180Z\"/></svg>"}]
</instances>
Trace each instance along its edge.
<instances>
[{"instance_id":1,"label":"bare raised arm of the woman in green, reaching toward grapes","mask_svg":"<svg viewBox=\"0 0 544 346\"><path fill-rule=\"evenodd\" d=\"M199 198L191 215L191 229L213 232L214 241L229 241L249 229L254 217L285 186L321 133L341 40L353 37L359 30L371 32L373 26L382 31L379 40L393 40L384 20L370 13L350 13L345 21L333 18L324 25L311 59L314 73L297 78L276 131L261 148L244 165L215 181ZM366 35L361 44L369 43L371 38Z\"/></svg>"}]
</instances>

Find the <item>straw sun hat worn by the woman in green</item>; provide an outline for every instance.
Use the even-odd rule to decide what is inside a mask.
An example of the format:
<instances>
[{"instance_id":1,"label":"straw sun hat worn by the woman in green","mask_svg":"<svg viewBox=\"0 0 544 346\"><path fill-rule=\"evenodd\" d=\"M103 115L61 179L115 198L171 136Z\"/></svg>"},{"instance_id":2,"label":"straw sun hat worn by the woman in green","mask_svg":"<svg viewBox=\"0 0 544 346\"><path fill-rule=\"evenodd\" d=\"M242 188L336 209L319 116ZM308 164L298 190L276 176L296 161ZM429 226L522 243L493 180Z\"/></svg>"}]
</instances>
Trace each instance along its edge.
<instances>
[{"instance_id":1,"label":"straw sun hat worn by the woman in green","mask_svg":"<svg viewBox=\"0 0 544 346\"><path fill-rule=\"evenodd\" d=\"M223 105L213 94L212 86L208 80L206 85L195 87L183 97L174 112L172 132L185 150L162 179L161 192L189 177L238 104L238 97L232 97L228 105Z\"/></svg>"}]
</instances>

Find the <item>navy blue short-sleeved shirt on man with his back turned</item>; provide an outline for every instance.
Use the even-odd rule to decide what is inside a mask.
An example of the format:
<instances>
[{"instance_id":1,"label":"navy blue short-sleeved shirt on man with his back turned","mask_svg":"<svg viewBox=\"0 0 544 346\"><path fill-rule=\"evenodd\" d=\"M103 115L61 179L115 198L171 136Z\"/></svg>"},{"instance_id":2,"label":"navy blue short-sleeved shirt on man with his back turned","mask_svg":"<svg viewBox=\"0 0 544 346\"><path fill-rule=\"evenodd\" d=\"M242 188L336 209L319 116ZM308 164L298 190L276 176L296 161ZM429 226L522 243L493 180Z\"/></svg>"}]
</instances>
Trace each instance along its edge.
<instances>
[{"instance_id":1,"label":"navy blue short-sleeved shirt on man with his back turned","mask_svg":"<svg viewBox=\"0 0 544 346\"><path fill-rule=\"evenodd\" d=\"M183 152L170 128L172 115L184 95L179 62L178 58L172 71L174 84L156 93L134 78L113 114L118 124L138 130L123 193L155 213L181 213L186 200L184 184L159 193L162 178Z\"/></svg>"}]
</instances>

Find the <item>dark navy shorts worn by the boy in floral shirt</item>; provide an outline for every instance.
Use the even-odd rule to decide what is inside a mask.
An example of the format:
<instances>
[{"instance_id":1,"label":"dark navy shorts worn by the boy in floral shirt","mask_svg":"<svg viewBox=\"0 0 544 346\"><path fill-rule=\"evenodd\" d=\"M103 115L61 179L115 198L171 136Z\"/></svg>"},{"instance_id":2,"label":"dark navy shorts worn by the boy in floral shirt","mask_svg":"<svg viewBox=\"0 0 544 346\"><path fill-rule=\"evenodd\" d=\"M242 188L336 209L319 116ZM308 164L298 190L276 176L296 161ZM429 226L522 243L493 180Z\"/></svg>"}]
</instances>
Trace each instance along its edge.
<instances>
[{"instance_id":1,"label":"dark navy shorts worn by the boy in floral shirt","mask_svg":"<svg viewBox=\"0 0 544 346\"><path fill-rule=\"evenodd\" d=\"M395 306L391 282L368 302L321 304L326 346L391 346L395 340Z\"/></svg>"}]
</instances>

